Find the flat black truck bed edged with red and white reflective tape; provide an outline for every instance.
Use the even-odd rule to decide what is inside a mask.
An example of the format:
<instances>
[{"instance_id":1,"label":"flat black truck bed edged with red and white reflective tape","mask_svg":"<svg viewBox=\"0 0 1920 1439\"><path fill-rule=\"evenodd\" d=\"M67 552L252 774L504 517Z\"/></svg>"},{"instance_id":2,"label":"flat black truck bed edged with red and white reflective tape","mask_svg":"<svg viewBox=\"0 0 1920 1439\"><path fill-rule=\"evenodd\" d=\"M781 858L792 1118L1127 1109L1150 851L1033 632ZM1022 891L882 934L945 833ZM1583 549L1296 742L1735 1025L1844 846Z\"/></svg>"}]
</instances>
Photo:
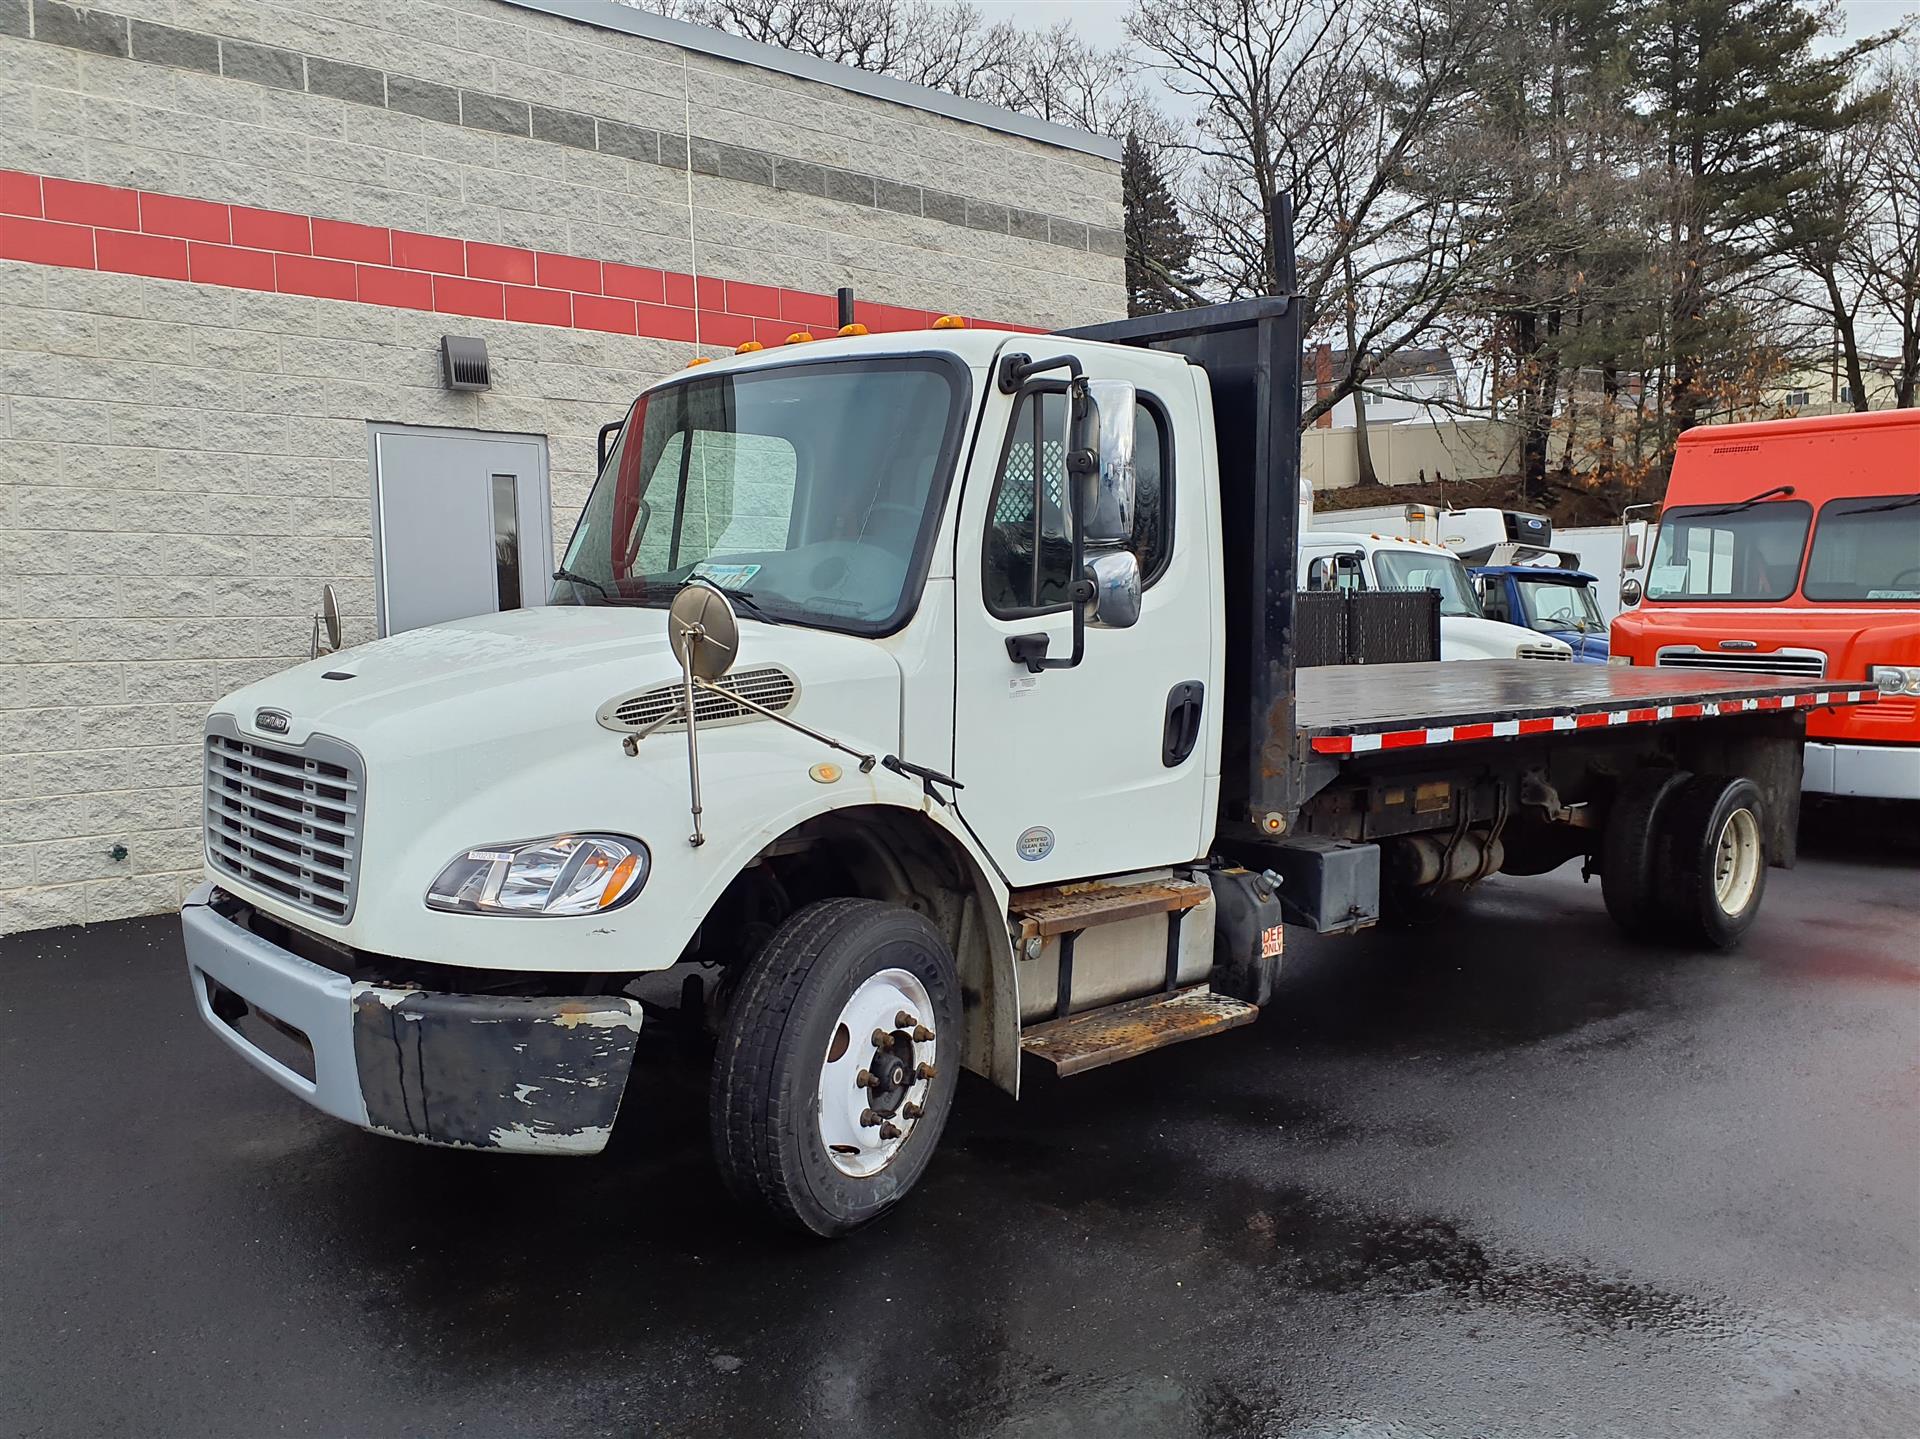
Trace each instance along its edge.
<instances>
[{"instance_id":1,"label":"flat black truck bed edged with red and white reflective tape","mask_svg":"<svg viewBox=\"0 0 1920 1439\"><path fill-rule=\"evenodd\" d=\"M1661 724L1768 709L1864 705L1859 680L1732 671L1469 659L1444 665L1323 665L1296 674L1294 720L1317 755Z\"/></svg>"}]
</instances>

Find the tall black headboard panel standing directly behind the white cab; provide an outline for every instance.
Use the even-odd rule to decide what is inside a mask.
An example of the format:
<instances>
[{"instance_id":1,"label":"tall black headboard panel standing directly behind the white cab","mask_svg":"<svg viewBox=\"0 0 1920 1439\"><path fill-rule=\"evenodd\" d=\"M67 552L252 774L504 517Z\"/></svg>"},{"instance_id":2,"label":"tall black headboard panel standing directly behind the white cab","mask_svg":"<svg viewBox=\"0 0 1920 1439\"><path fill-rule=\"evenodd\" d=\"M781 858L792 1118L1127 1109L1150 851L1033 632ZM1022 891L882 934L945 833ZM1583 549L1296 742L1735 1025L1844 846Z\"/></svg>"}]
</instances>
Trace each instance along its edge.
<instances>
[{"instance_id":1,"label":"tall black headboard panel standing directly behind the white cab","mask_svg":"<svg viewBox=\"0 0 1920 1439\"><path fill-rule=\"evenodd\" d=\"M1290 254L1284 223L1275 229ZM1165 350L1208 375L1227 592L1219 836L1277 840L1306 799L1308 763L1294 722L1300 307L1235 300L1062 334Z\"/></svg>"}]
</instances>

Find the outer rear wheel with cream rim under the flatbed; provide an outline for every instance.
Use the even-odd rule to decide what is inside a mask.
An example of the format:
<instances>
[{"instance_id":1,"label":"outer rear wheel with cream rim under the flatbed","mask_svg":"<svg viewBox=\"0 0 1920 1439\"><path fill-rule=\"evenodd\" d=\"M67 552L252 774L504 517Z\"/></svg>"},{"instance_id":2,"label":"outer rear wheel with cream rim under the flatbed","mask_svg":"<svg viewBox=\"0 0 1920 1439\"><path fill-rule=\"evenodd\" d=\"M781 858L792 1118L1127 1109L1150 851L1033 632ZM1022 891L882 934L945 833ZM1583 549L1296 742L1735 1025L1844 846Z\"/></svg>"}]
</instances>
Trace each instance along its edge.
<instances>
[{"instance_id":1,"label":"outer rear wheel with cream rim under the flatbed","mask_svg":"<svg viewBox=\"0 0 1920 1439\"><path fill-rule=\"evenodd\" d=\"M1655 863L1686 945L1732 949L1766 893L1766 811L1753 780L1701 774L1667 801Z\"/></svg>"}]
</instances>

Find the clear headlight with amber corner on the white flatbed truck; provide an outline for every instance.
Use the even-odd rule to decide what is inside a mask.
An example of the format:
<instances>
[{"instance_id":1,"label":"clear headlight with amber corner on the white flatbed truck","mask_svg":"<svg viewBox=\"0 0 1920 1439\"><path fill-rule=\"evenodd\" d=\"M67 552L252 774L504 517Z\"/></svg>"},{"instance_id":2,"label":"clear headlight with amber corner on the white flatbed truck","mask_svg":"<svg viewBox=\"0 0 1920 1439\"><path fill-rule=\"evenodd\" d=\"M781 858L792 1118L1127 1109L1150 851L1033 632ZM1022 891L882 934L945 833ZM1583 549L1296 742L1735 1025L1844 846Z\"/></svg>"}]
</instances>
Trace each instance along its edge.
<instances>
[{"instance_id":1,"label":"clear headlight with amber corner on the white flatbed truck","mask_svg":"<svg viewBox=\"0 0 1920 1439\"><path fill-rule=\"evenodd\" d=\"M459 915L597 915L639 893L647 845L624 834L555 834L453 857L426 891Z\"/></svg>"}]
</instances>

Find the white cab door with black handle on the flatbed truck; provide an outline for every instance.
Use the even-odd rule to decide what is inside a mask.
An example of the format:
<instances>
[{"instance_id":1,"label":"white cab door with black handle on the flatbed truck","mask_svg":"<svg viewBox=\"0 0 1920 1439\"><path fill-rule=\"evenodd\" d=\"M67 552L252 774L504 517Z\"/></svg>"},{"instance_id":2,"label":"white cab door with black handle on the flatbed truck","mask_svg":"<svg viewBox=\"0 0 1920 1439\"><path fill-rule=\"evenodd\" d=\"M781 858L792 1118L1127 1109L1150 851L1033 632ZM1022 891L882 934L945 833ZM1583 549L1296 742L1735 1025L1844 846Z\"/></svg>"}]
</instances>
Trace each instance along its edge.
<instances>
[{"instance_id":1,"label":"white cab door with black handle on the flatbed truck","mask_svg":"<svg viewBox=\"0 0 1920 1439\"><path fill-rule=\"evenodd\" d=\"M1046 636L1071 655L1066 375L995 396L954 542L958 811L1016 888L1196 859L1219 788L1204 442L1192 371L1100 350L1089 377L1131 380L1140 619L1087 626L1071 669L1008 653ZM1029 642L1031 644L1031 642Z\"/></svg>"}]
</instances>

